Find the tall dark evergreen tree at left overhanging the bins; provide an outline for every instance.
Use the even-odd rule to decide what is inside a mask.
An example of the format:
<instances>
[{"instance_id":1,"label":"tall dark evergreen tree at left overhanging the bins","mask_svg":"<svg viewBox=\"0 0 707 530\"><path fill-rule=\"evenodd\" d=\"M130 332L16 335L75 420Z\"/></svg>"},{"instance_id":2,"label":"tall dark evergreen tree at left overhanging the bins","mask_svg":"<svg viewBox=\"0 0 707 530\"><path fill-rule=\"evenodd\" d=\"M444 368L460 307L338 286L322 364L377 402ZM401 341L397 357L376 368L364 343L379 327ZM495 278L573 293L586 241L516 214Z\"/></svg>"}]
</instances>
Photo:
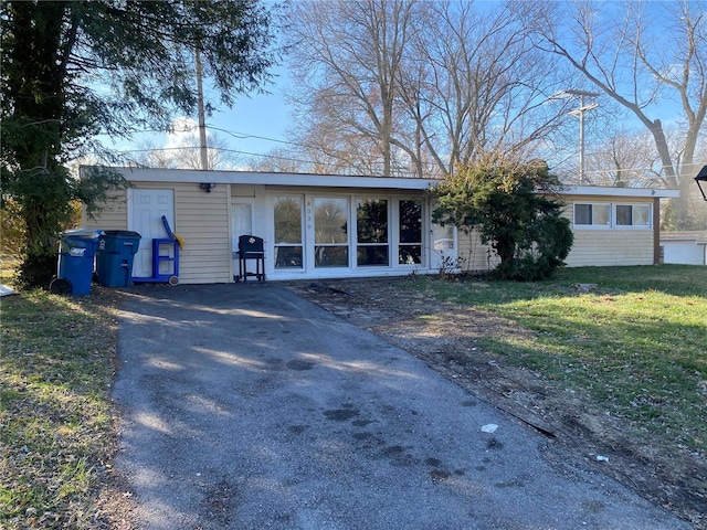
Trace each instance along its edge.
<instances>
[{"instance_id":1,"label":"tall dark evergreen tree at left overhanging the bins","mask_svg":"<svg viewBox=\"0 0 707 530\"><path fill-rule=\"evenodd\" d=\"M256 0L34 0L0 9L2 206L22 221L20 282L46 286L72 201L92 213L123 186L109 171L78 179L68 163L88 153L105 160L99 134L167 130L176 113L192 114L197 49L221 104L257 89L274 63L274 11Z\"/></svg>"}]
</instances>

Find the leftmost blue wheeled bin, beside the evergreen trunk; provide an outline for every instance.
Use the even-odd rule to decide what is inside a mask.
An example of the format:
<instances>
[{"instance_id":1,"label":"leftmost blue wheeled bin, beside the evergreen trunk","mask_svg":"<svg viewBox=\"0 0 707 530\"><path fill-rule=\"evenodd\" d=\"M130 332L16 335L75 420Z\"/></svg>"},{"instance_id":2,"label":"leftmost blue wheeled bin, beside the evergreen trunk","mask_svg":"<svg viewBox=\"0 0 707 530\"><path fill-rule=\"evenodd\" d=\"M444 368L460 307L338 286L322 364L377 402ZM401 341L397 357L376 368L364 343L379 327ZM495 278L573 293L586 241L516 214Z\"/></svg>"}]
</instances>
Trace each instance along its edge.
<instances>
[{"instance_id":1,"label":"leftmost blue wheeled bin, beside the evergreen trunk","mask_svg":"<svg viewBox=\"0 0 707 530\"><path fill-rule=\"evenodd\" d=\"M99 232L70 230L60 239L57 277L71 284L72 295L89 295Z\"/></svg>"}]
</instances>

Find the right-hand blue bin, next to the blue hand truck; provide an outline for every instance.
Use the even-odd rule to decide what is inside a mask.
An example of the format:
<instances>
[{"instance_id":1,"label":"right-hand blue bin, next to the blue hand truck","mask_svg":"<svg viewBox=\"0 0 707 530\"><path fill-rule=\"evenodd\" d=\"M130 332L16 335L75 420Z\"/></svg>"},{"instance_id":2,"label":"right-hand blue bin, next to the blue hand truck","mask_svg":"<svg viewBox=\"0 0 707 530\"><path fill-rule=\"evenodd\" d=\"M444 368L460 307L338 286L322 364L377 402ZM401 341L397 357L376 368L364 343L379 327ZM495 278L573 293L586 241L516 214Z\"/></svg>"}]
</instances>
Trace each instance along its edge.
<instances>
[{"instance_id":1,"label":"right-hand blue bin, next to the blue hand truck","mask_svg":"<svg viewBox=\"0 0 707 530\"><path fill-rule=\"evenodd\" d=\"M134 256L140 246L140 234L127 230L106 230L99 237L96 256L98 284L104 287L133 285Z\"/></svg>"}]
</instances>

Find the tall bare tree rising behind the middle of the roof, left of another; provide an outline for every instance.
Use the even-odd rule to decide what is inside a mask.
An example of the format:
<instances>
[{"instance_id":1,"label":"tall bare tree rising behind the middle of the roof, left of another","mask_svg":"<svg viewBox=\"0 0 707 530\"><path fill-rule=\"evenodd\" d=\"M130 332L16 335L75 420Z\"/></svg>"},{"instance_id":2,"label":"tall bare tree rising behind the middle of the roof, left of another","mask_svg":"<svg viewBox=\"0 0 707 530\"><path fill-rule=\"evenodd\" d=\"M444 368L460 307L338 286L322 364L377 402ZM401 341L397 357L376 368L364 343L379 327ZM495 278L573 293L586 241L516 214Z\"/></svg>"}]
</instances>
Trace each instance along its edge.
<instances>
[{"instance_id":1,"label":"tall bare tree rising behind the middle of the roof, left of another","mask_svg":"<svg viewBox=\"0 0 707 530\"><path fill-rule=\"evenodd\" d=\"M415 7L414 0L293 3L292 65L302 87L300 116L319 114L333 134L355 132L362 152L377 151L382 168L376 173L386 176L392 174L393 148L408 149L395 137L395 80Z\"/></svg>"}]
</instances>

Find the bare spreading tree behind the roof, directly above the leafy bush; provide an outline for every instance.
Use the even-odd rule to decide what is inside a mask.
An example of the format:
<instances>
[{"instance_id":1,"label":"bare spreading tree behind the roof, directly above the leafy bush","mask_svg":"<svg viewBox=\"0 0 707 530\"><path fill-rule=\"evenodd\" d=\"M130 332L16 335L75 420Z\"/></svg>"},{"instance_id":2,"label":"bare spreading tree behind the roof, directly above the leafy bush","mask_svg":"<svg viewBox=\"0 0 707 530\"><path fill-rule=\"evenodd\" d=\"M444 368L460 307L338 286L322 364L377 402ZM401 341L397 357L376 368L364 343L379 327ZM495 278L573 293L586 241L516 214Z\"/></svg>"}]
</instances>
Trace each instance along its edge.
<instances>
[{"instance_id":1,"label":"bare spreading tree behind the roof, directly above the leafy bush","mask_svg":"<svg viewBox=\"0 0 707 530\"><path fill-rule=\"evenodd\" d=\"M564 121L568 102L553 96L568 81L532 46L532 2L444 0L425 15L401 95L440 170L489 151L537 153Z\"/></svg>"}]
</instances>

